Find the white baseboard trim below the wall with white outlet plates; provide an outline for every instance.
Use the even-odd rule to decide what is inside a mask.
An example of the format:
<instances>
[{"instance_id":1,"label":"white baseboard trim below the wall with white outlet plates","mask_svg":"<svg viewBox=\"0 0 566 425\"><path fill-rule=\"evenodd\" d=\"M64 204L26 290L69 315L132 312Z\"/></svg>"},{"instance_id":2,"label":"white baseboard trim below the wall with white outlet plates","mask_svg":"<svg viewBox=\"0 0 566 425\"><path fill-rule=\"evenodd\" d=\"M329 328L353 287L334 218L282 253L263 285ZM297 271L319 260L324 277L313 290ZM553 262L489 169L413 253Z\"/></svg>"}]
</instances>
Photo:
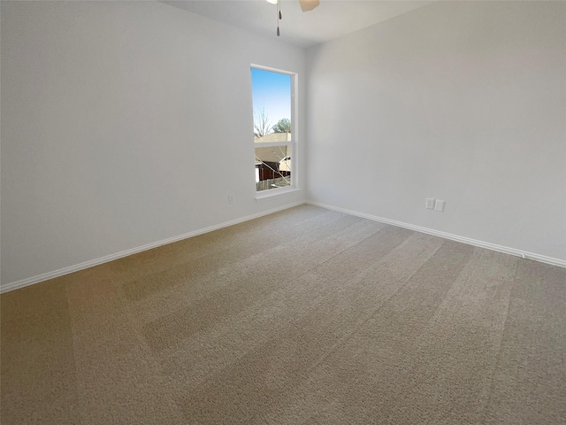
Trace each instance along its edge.
<instances>
[{"instance_id":1,"label":"white baseboard trim below the wall with white outlet plates","mask_svg":"<svg viewBox=\"0 0 566 425\"><path fill-rule=\"evenodd\" d=\"M444 239L449 239L449 240L456 241L456 242L468 243L470 245L478 246L479 248L486 248L487 250L499 251L499 252L503 252L505 254L515 255L516 257L520 257L522 259L533 259L535 261L540 261L541 263L547 263L547 264L550 264L550 265L553 265L553 266L565 267L566 268L566 260L563 260L563 259L555 259L555 258L552 258L552 257L547 257L547 256L544 256L544 255L535 254L534 252L520 251L520 250L516 250L515 248L509 248L507 246L501 246L501 245L497 245L495 243L478 241L477 239L471 239L470 237L452 235L450 233L440 232L438 230L433 230L432 228L422 228L420 226L414 226L412 224L403 223L402 221L384 219L383 217L378 217L376 215L371 215L371 214L366 214L366 213L358 213L356 211L347 210L345 208L340 208L338 206L326 205L326 204L321 204L319 202L313 202L313 201L307 201L306 204L319 206L321 208L325 208L327 210L337 211L339 213L345 213L345 214L348 214L348 215L355 215L356 217L362 217L363 219L379 221L379 222L385 223L385 224L391 224L391 225L397 226L399 228L409 228L410 230L415 230L417 232L426 233L426 234L432 235L432 236L443 237Z\"/></svg>"}]
</instances>

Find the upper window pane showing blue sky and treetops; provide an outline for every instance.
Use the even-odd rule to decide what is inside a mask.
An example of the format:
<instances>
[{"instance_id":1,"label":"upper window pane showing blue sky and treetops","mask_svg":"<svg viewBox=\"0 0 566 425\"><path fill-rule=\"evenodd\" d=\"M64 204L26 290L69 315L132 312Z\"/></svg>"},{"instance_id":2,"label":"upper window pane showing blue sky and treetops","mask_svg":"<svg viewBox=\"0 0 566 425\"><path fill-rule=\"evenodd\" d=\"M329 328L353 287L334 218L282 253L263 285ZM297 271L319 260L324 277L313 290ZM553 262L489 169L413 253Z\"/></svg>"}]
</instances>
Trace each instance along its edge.
<instances>
[{"instance_id":1,"label":"upper window pane showing blue sky and treetops","mask_svg":"<svg viewBox=\"0 0 566 425\"><path fill-rule=\"evenodd\" d=\"M291 75L251 68L251 85L256 142L262 142L267 135L289 135Z\"/></svg>"}]
</instances>

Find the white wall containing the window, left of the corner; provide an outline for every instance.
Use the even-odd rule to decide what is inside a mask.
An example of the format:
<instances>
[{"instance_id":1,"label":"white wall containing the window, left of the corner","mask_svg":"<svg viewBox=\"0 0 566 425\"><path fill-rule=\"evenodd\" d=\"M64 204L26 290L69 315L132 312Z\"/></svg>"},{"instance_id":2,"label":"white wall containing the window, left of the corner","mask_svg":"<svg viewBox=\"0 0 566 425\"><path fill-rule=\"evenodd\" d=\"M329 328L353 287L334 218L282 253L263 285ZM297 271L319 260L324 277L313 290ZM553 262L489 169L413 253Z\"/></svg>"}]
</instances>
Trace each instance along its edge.
<instances>
[{"instance_id":1,"label":"white wall containing the window, left of the corner","mask_svg":"<svg viewBox=\"0 0 566 425\"><path fill-rule=\"evenodd\" d=\"M2 2L3 285L302 202L256 202L252 63L304 98L304 50L166 4Z\"/></svg>"}]
</instances>

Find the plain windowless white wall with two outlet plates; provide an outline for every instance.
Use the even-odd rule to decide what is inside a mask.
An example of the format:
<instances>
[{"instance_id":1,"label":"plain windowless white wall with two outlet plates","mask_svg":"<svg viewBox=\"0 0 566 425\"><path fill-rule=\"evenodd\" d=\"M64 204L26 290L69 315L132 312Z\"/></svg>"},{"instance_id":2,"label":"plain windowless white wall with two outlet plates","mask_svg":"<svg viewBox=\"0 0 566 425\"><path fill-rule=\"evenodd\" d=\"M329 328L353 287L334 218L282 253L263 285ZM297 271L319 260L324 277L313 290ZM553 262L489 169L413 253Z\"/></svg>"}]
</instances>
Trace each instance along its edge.
<instances>
[{"instance_id":1,"label":"plain windowless white wall with two outlet plates","mask_svg":"<svg viewBox=\"0 0 566 425\"><path fill-rule=\"evenodd\" d=\"M564 264L565 23L438 2L308 50L309 199Z\"/></svg>"}]
</instances>

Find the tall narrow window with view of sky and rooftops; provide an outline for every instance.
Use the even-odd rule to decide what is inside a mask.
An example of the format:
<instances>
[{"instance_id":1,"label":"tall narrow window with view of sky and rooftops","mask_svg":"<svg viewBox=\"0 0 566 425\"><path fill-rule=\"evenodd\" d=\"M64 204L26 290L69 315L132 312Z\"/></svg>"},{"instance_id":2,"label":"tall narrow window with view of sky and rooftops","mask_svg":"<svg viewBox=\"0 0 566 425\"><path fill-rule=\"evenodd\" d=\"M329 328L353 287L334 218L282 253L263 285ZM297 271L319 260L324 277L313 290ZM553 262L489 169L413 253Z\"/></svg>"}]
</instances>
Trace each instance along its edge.
<instances>
[{"instance_id":1,"label":"tall narrow window with view of sky and rooftops","mask_svg":"<svg viewBox=\"0 0 566 425\"><path fill-rule=\"evenodd\" d=\"M251 68L257 192L296 186L295 78L293 73Z\"/></svg>"}]
</instances>

